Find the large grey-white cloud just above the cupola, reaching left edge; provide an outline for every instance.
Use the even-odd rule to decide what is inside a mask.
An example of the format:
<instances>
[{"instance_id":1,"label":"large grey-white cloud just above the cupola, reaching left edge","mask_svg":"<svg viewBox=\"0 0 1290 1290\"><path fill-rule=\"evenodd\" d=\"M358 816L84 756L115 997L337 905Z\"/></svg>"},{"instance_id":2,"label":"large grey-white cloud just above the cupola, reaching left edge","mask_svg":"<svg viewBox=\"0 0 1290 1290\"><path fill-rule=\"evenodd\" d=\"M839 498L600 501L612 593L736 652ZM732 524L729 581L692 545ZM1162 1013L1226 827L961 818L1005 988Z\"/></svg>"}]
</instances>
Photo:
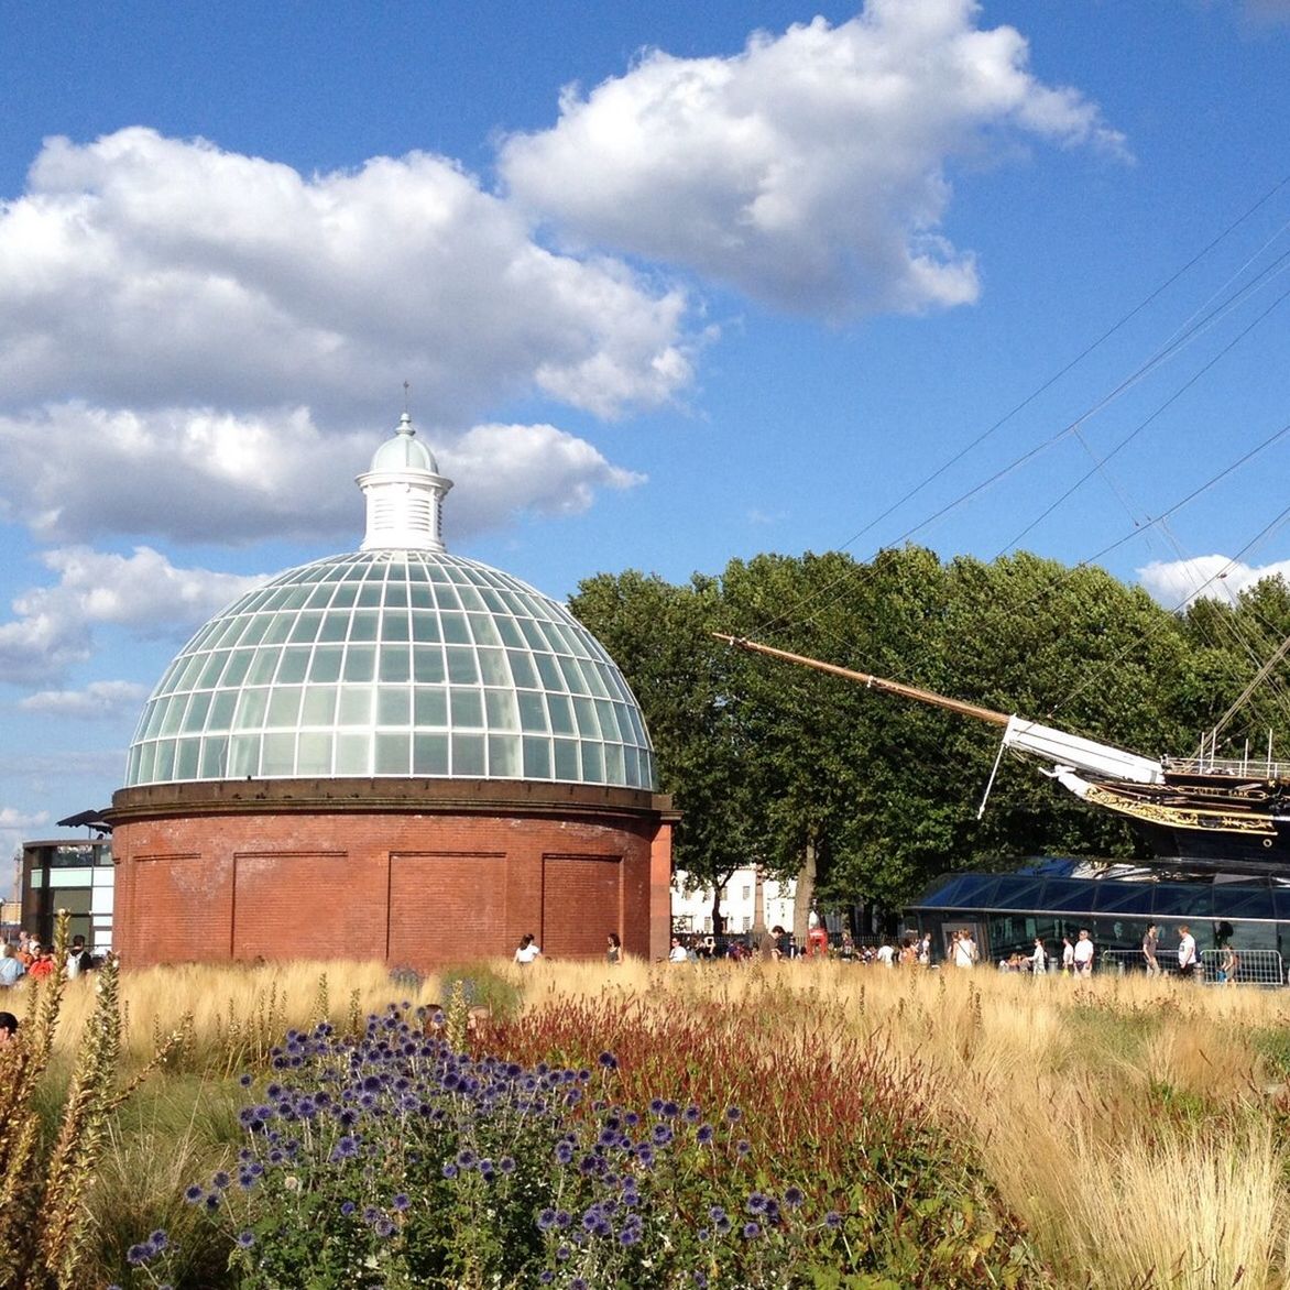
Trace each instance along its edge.
<instances>
[{"instance_id":1,"label":"large grey-white cloud just above the cupola, reaching left edge","mask_svg":"<svg viewBox=\"0 0 1290 1290\"><path fill-rule=\"evenodd\" d=\"M534 388L614 415L691 377L681 293L553 254L428 154L302 175L139 126L52 138L0 205L0 281L10 409L304 395L352 428L406 379L423 415L462 424Z\"/></svg>"}]
</instances>

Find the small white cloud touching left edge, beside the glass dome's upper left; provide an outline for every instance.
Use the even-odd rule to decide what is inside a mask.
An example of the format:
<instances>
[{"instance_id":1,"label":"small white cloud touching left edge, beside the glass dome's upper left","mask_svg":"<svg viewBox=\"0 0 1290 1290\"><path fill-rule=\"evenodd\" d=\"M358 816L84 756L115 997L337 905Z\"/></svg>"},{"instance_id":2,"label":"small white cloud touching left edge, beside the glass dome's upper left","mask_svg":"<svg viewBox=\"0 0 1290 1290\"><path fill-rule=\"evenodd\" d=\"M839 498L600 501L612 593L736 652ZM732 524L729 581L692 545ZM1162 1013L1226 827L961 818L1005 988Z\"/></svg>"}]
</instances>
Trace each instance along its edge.
<instances>
[{"instance_id":1,"label":"small white cloud touching left edge, beside the glass dome's upper left","mask_svg":"<svg viewBox=\"0 0 1290 1290\"><path fill-rule=\"evenodd\" d=\"M17 617L0 623L0 680L10 685L63 676L90 657L95 626L137 636L183 635L268 577L182 569L150 547L129 556L58 547L41 559L58 582L17 596Z\"/></svg>"}]
</instances>

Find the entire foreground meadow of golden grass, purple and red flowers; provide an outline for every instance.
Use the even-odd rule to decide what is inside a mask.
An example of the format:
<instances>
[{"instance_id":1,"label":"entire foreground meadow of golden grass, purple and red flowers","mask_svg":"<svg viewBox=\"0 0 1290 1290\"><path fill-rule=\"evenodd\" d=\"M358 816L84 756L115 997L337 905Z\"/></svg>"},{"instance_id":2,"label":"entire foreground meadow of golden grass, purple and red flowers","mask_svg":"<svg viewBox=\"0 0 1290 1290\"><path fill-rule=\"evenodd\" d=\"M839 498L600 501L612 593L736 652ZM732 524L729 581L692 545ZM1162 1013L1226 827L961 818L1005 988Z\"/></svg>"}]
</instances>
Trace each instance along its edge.
<instances>
[{"instance_id":1,"label":"entire foreground meadow of golden grass, purple and red flowers","mask_svg":"<svg viewBox=\"0 0 1290 1290\"><path fill-rule=\"evenodd\" d=\"M23 1004L4 1284L1290 1284L1280 993L301 964Z\"/></svg>"}]
</instances>

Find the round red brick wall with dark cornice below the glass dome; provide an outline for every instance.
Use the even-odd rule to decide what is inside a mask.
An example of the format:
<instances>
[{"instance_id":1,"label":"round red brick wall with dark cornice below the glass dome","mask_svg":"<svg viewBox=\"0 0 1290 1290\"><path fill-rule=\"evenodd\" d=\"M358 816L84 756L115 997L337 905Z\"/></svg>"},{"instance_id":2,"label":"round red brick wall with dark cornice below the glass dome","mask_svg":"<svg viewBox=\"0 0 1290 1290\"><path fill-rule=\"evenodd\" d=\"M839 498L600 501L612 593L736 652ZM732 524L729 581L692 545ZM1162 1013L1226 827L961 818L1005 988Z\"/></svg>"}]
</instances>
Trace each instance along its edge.
<instances>
[{"instance_id":1,"label":"round red brick wall with dark cornice below the glass dome","mask_svg":"<svg viewBox=\"0 0 1290 1290\"><path fill-rule=\"evenodd\" d=\"M654 906L671 823L655 809L311 809L262 792L218 809L188 800L179 813L156 793L146 805L117 799L114 942L126 964L433 968L510 956L526 931L550 956L596 957L618 931L630 953L657 957L667 924L666 885Z\"/></svg>"}]
</instances>

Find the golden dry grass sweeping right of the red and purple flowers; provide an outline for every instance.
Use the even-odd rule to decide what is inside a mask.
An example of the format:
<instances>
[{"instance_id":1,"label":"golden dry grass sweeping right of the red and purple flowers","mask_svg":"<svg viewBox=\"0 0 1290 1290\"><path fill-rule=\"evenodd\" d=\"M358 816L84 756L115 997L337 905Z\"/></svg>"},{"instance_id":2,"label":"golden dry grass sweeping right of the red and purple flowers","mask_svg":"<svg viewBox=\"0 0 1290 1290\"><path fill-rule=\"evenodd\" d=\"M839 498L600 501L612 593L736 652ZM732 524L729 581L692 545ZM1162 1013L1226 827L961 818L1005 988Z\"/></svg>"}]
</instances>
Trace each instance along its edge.
<instances>
[{"instance_id":1,"label":"golden dry grass sweeping right of the red and purple flowers","mask_svg":"<svg viewBox=\"0 0 1290 1290\"><path fill-rule=\"evenodd\" d=\"M944 1122L1066 1284L1290 1286L1285 1073L1251 1042L1290 1026L1280 992L836 964L544 964L529 986L529 1006L608 989L783 1007L787 988L804 1014L840 1009L937 1076Z\"/></svg>"}]
</instances>

